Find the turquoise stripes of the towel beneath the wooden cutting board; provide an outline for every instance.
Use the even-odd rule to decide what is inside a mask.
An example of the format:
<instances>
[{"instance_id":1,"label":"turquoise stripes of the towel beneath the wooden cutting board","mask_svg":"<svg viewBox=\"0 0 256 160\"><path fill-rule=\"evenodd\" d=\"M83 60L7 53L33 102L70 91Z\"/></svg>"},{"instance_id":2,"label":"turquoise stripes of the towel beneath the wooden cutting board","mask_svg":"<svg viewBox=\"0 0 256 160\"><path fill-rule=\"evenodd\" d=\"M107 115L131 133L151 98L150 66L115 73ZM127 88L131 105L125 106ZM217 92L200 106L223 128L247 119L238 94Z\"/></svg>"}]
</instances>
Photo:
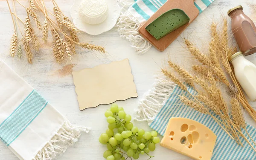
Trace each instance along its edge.
<instances>
[{"instance_id":1,"label":"turquoise stripes of the towel beneath the wooden cutting board","mask_svg":"<svg viewBox=\"0 0 256 160\"><path fill-rule=\"evenodd\" d=\"M143 4L145 5L145 8L140 8L140 6L138 6L137 3L139 3L140 1L143 2ZM148 13L146 12L146 8L150 9L152 12L157 12L157 9L163 6L163 4L166 3L166 1L167 0L134 0L135 3L132 5L132 7L136 10L136 12L141 17L143 17L145 20L148 20L148 18L151 15L148 15ZM202 2L201 4L205 6L200 6L196 2L194 2L194 4L198 8L199 13L201 13L205 9L205 7L208 7L212 3L212 1L213 0L201 0Z\"/></svg>"}]
</instances>

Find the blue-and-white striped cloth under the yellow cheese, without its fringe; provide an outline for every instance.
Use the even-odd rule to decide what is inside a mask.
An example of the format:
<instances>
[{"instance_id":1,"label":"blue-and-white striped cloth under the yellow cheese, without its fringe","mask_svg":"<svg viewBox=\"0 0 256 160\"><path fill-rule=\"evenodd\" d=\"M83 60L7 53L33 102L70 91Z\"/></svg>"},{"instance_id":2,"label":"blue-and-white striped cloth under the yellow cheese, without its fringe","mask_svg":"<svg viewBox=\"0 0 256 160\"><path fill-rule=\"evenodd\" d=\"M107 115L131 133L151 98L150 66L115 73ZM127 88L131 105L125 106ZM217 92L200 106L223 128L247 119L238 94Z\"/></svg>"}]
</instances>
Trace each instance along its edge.
<instances>
[{"instance_id":1,"label":"blue-and-white striped cloth under the yellow cheese, without its fringe","mask_svg":"<svg viewBox=\"0 0 256 160\"><path fill-rule=\"evenodd\" d=\"M196 95L195 90L192 88L188 87L188 91ZM184 105L180 101L179 95L184 95L188 97L188 99L192 99L187 92L184 92L176 85L169 99L167 99L166 103L163 105L163 108L161 108L155 119L149 124L152 129L163 136L170 118L183 117L193 119L207 126L217 135L217 141L211 160L256 160L256 152L253 151L243 138L240 140L244 147L238 145L235 140L232 140L211 116L195 111ZM220 119L218 116L216 117ZM247 125L246 128L253 140L256 141L256 128L253 128L251 125ZM242 132L246 135L249 142L253 144L252 140L250 140L249 136L246 134L246 131L242 129Z\"/></svg>"}]
</instances>

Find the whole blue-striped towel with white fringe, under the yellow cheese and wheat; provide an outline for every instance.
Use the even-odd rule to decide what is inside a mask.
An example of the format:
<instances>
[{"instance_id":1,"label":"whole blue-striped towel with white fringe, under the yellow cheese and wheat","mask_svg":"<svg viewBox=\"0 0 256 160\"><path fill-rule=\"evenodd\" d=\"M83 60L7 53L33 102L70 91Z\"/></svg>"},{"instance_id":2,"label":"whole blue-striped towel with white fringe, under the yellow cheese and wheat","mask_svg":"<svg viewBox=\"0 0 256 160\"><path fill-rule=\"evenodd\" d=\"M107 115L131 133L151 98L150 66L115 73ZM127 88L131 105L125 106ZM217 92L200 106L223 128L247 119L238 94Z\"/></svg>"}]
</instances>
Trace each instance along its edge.
<instances>
[{"instance_id":1,"label":"whole blue-striped towel with white fringe, under the yellow cheese and wheat","mask_svg":"<svg viewBox=\"0 0 256 160\"><path fill-rule=\"evenodd\" d=\"M190 93L195 90L187 87ZM217 141L211 160L256 160L256 152L244 139L241 139L244 147L238 145L227 133L207 114L200 113L180 102L179 95L188 96L176 84L156 78L154 88L141 100L136 112L138 121L147 121L148 125L163 136L169 119L172 117L183 117L193 119L210 128L216 135ZM247 125L247 131L256 141L256 129ZM244 135L246 132L242 129ZM250 138L247 139L252 143ZM253 143L252 143L253 144Z\"/></svg>"}]
</instances>

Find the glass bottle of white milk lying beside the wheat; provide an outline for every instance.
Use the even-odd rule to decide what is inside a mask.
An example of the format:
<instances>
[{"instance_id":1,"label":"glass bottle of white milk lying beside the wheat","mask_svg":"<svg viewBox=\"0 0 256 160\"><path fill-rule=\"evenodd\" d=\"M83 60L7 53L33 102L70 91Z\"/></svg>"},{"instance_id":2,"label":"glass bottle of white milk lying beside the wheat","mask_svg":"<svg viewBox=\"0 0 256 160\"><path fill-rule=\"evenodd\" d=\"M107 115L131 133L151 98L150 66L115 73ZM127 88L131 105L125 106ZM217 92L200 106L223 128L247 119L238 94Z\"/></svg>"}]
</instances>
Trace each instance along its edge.
<instances>
[{"instance_id":1,"label":"glass bottle of white milk lying beside the wheat","mask_svg":"<svg viewBox=\"0 0 256 160\"><path fill-rule=\"evenodd\" d=\"M235 76L251 101L256 101L256 66L244 58L242 52L230 57Z\"/></svg>"}]
</instances>

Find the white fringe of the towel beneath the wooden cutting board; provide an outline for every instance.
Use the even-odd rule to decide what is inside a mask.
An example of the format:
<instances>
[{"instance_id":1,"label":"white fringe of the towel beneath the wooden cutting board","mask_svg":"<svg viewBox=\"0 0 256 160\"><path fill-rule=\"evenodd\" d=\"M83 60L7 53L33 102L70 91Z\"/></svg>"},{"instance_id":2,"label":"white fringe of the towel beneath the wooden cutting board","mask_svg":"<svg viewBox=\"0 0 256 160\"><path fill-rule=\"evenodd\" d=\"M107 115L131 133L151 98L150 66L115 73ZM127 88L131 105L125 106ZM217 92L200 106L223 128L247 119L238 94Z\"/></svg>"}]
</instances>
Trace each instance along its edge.
<instances>
[{"instance_id":1,"label":"white fringe of the towel beneath the wooden cutting board","mask_svg":"<svg viewBox=\"0 0 256 160\"><path fill-rule=\"evenodd\" d=\"M121 15L117 20L116 26L120 37L131 42L131 47L136 48L138 54L143 54L151 48L151 44L140 35L140 22L130 13L128 9L131 5L119 0L121 4Z\"/></svg>"}]
</instances>

